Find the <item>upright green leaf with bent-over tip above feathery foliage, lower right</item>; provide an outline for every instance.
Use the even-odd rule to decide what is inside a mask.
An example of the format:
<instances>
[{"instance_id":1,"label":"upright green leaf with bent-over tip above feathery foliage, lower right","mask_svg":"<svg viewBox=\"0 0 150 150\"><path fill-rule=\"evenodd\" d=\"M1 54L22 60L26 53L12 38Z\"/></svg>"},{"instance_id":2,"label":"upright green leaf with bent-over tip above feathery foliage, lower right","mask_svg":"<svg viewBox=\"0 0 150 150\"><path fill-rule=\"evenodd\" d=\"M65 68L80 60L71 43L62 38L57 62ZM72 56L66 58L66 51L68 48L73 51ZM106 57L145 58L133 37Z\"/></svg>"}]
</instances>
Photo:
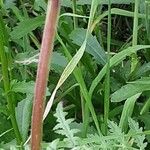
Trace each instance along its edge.
<instances>
[{"instance_id":1,"label":"upright green leaf with bent-over tip above feathery foliage, lower right","mask_svg":"<svg viewBox=\"0 0 150 150\"><path fill-rule=\"evenodd\" d=\"M138 93L138 94L128 98L125 101L123 111L122 111L122 114L121 114L121 119L120 119L120 122L119 122L119 127L123 131L127 131L128 118L131 117L131 115L133 113L135 102L139 98L140 95L141 95L141 93Z\"/></svg>"}]
</instances>

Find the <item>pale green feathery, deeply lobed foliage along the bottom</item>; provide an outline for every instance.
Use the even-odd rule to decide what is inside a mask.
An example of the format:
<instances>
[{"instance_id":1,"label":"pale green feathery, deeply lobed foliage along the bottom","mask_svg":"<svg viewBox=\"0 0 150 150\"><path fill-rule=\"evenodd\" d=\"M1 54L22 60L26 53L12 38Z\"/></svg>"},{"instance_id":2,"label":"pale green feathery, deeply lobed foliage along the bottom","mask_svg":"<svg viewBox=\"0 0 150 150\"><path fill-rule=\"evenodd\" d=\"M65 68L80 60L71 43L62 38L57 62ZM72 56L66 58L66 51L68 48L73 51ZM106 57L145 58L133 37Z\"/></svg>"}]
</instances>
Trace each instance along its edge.
<instances>
[{"instance_id":1,"label":"pale green feathery, deeply lobed foliage along the bottom","mask_svg":"<svg viewBox=\"0 0 150 150\"><path fill-rule=\"evenodd\" d=\"M65 119L67 113L63 111L62 103L59 103L54 116L57 118L55 132L64 137L56 139L51 143L43 144L47 149L140 149L143 150L147 143L144 142L145 135L136 121L129 118L129 132L125 134L113 121L108 122L109 132L107 136L99 136L97 133L88 134L87 138L77 136L77 129L71 129L70 124L74 119Z\"/></svg>"}]
</instances>

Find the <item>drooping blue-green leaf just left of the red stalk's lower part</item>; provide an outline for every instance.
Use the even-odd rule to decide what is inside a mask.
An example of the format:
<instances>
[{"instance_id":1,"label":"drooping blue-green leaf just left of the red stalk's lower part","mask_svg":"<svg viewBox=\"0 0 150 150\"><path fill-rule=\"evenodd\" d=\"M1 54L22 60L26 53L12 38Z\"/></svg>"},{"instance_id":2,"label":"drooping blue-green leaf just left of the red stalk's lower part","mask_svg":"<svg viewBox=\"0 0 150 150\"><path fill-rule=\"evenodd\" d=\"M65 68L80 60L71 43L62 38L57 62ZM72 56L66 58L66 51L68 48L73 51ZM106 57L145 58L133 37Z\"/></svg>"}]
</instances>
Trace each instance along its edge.
<instances>
[{"instance_id":1,"label":"drooping blue-green leaf just left of the red stalk's lower part","mask_svg":"<svg viewBox=\"0 0 150 150\"><path fill-rule=\"evenodd\" d=\"M33 95L28 94L26 99L19 102L16 107L16 118L23 142L25 142L28 137L31 121L32 97Z\"/></svg>"}]
</instances>

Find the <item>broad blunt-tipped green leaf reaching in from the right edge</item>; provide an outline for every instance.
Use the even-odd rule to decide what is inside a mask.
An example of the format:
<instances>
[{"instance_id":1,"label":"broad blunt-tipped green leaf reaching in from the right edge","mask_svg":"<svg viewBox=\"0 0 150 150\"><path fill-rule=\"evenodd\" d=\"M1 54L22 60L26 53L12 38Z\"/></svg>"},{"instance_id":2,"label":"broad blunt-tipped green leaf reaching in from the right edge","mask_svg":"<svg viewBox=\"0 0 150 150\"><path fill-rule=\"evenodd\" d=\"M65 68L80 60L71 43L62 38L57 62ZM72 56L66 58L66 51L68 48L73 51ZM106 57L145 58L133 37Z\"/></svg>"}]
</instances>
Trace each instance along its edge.
<instances>
[{"instance_id":1,"label":"broad blunt-tipped green leaf reaching in from the right edge","mask_svg":"<svg viewBox=\"0 0 150 150\"><path fill-rule=\"evenodd\" d=\"M121 102L137 93L150 90L150 77L131 82L111 95L112 102Z\"/></svg>"}]
</instances>

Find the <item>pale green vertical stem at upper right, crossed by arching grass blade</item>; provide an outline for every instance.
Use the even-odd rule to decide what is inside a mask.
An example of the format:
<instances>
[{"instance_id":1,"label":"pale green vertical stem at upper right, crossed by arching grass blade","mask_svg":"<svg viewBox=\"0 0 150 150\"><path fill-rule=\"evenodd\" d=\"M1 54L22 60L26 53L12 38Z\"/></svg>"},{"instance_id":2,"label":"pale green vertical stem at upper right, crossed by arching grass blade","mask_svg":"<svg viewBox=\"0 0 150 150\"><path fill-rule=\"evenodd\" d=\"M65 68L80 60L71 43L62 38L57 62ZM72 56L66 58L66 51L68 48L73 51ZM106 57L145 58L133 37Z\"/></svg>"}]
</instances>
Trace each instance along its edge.
<instances>
[{"instance_id":1,"label":"pale green vertical stem at upper right, crossed by arching grass blade","mask_svg":"<svg viewBox=\"0 0 150 150\"><path fill-rule=\"evenodd\" d=\"M133 23L133 39L132 46L137 45L137 36L138 36L138 10L139 10L139 0L135 0L134 6L134 23ZM131 73L135 70L138 63L137 54L132 54L131 58Z\"/></svg>"}]
</instances>

